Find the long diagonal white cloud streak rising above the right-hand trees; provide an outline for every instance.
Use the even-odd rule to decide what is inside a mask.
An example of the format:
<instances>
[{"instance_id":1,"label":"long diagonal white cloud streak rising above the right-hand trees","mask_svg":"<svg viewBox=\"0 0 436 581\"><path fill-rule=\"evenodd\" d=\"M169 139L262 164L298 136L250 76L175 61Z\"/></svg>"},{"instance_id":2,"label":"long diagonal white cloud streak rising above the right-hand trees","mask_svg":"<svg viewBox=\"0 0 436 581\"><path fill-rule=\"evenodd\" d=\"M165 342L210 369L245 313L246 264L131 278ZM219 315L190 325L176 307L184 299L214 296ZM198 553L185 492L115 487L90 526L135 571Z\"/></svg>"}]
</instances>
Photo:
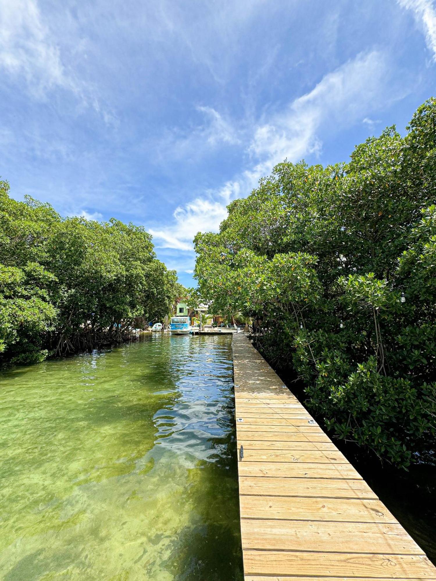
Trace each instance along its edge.
<instances>
[{"instance_id":1,"label":"long diagonal white cloud streak rising above the right-hand trees","mask_svg":"<svg viewBox=\"0 0 436 581\"><path fill-rule=\"evenodd\" d=\"M296 162L317 153L322 145L321 128L337 131L360 121L362 113L377 109L377 103L385 98L381 95L388 82L382 53L358 55L326 74L312 91L294 99L280 113L260 120L246 142L248 167L216 191L178 207L169 226L152 229L156 246L192 251L191 241L196 232L216 232L227 216L227 204L248 195L274 165L284 159Z\"/></svg>"}]
</instances>

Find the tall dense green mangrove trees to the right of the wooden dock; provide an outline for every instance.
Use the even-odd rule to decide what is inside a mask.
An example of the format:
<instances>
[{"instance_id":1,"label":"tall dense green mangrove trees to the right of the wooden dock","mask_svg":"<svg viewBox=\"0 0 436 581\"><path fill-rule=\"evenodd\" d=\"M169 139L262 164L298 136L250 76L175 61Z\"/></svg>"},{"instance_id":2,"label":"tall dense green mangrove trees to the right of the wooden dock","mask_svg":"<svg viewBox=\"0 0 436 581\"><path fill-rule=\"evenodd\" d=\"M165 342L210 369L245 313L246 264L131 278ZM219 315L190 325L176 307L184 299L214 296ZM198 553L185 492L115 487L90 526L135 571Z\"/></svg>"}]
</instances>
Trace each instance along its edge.
<instances>
[{"instance_id":1,"label":"tall dense green mangrove trees to the right of the wooden dock","mask_svg":"<svg viewBox=\"0 0 436 581\"><path fill-rule=\"evenodd\" d=\"M435 125L430 99L348 163L280 163L195 238L213 310L252 317L327 428L399 465L436 435Z\"/></svg>"}]
</instances>

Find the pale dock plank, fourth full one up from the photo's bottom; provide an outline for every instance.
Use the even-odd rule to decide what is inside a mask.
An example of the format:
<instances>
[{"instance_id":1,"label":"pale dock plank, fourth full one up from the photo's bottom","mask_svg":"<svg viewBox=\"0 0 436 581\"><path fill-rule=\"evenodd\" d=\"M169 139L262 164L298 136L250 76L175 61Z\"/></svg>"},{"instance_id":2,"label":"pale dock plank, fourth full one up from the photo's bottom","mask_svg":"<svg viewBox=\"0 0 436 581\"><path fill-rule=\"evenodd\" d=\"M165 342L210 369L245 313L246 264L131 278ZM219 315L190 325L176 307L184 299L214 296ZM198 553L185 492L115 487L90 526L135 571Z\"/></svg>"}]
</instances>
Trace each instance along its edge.
<instances>
[{"instance_id":1,"label":"pale dock plank, fourth full one up from the photo's bottom","mask_svg":"<svg viewBox=\"0 0 436 581\"><path fill-rule=\"evenodd\" d=\"M313 496L316 498L373 498L374 493L364 480L323 478L256 478L240 476L240 494L263 496Z\"/></svg>"}]
</instances>

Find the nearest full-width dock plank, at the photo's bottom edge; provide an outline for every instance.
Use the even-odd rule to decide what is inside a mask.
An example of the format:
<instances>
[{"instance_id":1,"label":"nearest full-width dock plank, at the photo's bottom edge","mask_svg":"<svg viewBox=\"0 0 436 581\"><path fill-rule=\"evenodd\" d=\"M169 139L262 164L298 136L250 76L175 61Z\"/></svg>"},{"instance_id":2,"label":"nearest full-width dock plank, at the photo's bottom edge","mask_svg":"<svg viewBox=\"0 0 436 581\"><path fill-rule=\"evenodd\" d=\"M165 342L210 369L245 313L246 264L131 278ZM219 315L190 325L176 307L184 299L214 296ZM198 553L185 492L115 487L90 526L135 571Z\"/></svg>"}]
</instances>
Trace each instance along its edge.
<instances>
[{"instance_id":1,"label":"nearest full-width dock plank, at the photo's bottom edge","mask_svg":"<svg viewBox=\"0 0 436 581\"><path fill-rule=\"evenodd\" d=\"M434 567L423 555L303 553L244 551L246 575L319 575L384 579L434 578ZM247 579L247 578L246 578ZM271 579L269 580L271 581ZM276 581L276 577L274 577Z\"/></svg>"}]
</instances>

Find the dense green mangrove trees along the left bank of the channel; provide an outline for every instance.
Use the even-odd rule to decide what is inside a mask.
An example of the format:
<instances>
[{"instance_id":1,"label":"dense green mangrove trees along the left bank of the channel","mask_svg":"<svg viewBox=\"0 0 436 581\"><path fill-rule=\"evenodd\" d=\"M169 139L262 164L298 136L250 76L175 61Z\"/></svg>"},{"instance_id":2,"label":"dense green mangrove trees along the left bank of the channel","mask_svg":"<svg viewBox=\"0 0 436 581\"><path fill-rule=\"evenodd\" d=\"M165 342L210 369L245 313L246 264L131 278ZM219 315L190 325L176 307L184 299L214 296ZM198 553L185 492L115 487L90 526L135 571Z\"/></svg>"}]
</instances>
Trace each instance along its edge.
<instances>
[{"instance_id":1,"label":"dense green mangrove trees along the left bank of the channel","mask_svg":"<svg viewBox=\"0 0 436 581\"><path fill-rule=\"evenodd\" d=\"M0 360L120 342L138 317L165 317L177 292L144 228L62 219L0 182Z\"/></svg>"}]
</instances>

